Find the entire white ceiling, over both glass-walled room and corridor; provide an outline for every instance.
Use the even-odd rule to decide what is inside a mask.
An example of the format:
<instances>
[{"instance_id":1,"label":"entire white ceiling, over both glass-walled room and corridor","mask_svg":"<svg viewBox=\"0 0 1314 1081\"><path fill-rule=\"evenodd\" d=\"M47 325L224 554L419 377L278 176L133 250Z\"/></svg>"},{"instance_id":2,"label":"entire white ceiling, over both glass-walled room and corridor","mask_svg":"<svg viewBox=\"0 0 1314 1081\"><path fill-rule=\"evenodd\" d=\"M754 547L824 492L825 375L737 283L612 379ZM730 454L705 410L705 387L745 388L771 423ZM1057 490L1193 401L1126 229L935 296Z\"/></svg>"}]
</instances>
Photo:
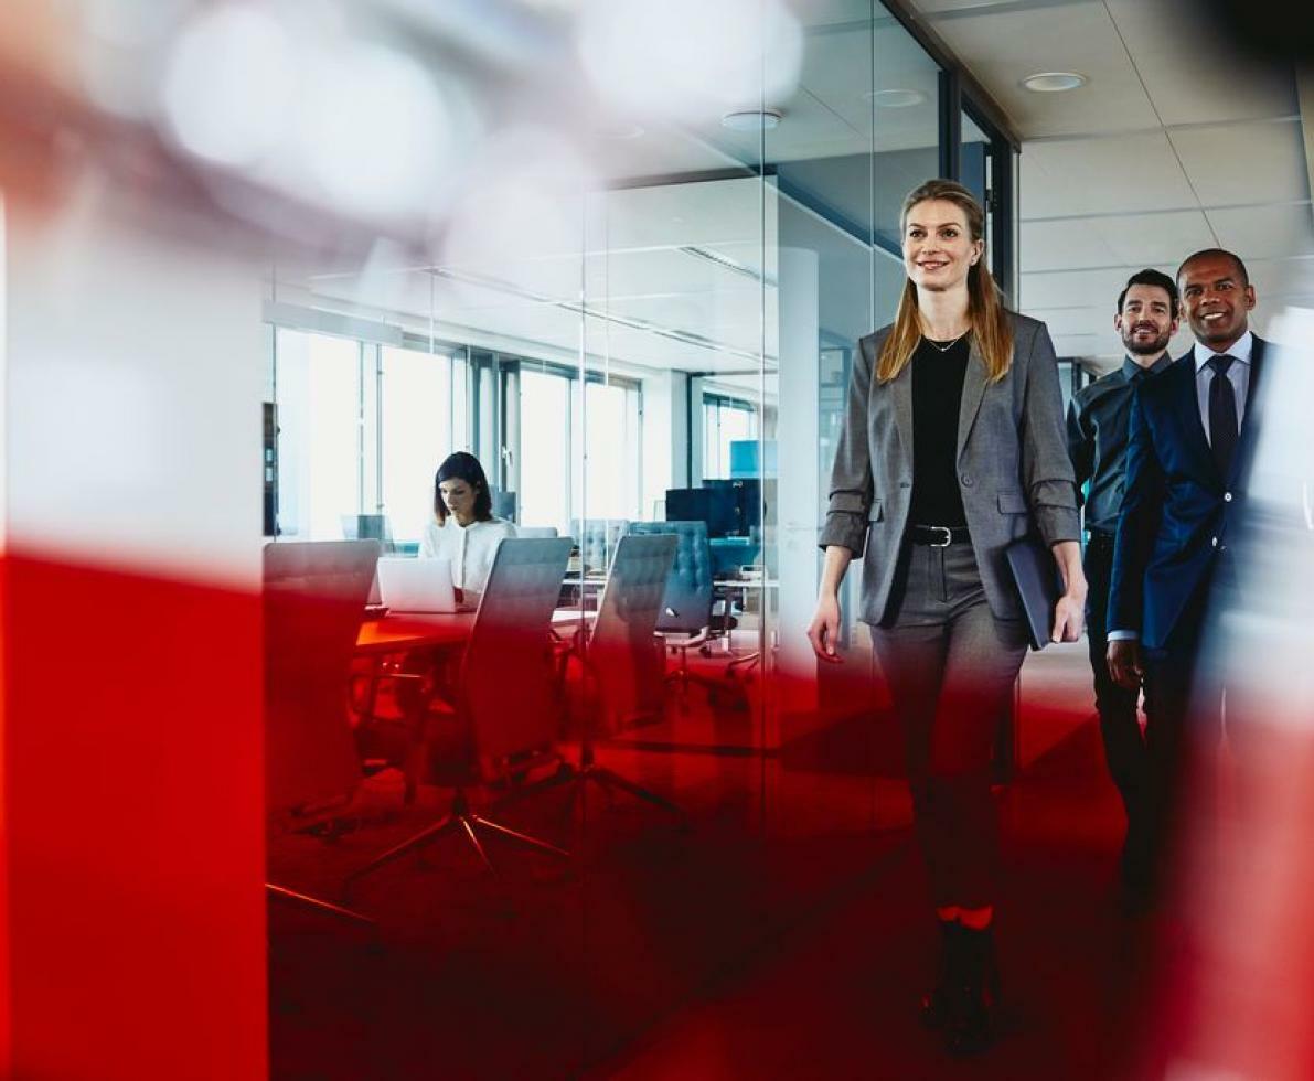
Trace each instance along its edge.
<instances>
[{"instance_id":1,"label":"entire white ceiling, over both glass-walled room and corridor","mask_svg":"<svg viewBox=\"0 0 1314 1081\"><path fill-rule=\"evenodd\" d=\"M1126 277L1146 265L1171 273L1206 246L1250 264L1260 330L1288 303L1314 306L1314 214L1289 71L1242 68L1202 45L1175 0L915 7L1022 138L1018 301L1050 324L1060 355L1116 363L1112 315ZM802 64L798 88L767 102L784 114L778 129L736 133L712 114L635 125L581 106L570 131L581 175L612 190L581 204L569 185L553 189L560 169L545 168L543 183L535 154L516 154L422 255L382 251L364 272L285 268L286 284L415 327L432 314L442 334L528 355L569 360L583 343L618 370L744 372L761 353L774 366L759 317L770 215L745 164L765 154L782 184L858 234L888 226L903 192L936 168L937 72L907 32L890 17L872 30L869 0L791 8ZM1089 83L1021 88L1025 75L1055 70ZM913 104L872 108L887 89L912 92ZM848 288L870 281L861 246L823 225L808 243L823 281L846 282L821 290L821 328L851 340L871 319L865 289ZM766 267L769 303L777 269ZM1188 343L1183 331L1175 348Z\"/></svg>"}]
</instances>

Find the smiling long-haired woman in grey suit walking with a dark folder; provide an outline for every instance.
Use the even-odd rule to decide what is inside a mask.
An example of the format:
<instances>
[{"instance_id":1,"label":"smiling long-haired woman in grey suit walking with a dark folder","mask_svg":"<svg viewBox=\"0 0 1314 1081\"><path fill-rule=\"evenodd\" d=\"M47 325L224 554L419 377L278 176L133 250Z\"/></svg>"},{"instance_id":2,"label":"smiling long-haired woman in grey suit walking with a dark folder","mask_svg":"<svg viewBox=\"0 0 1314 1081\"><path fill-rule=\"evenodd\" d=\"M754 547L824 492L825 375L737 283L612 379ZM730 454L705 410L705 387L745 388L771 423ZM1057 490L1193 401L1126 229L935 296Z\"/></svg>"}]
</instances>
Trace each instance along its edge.
<instances>
[{"instance_id":1,"label":"smiling long-haired woman in grey suit walking with a dark folder","mask_svg":"<svg viewBox=\"0 0 1314 1081\"><path fill-rule=\"evenodd\" d=\"M966 1052L989 1043L999 996L989 759L1028 642L1004 548L1028 531L1051 546L1066 583L1054 641L1080 636L1085 578L1045 324L1004 309L966 188L922 184L900 227L908 281L854 360L808 638L840 661L838 588L861 556L861 619L903 728L943 942L922 1019Z\"/></svg>"}]
</instances>

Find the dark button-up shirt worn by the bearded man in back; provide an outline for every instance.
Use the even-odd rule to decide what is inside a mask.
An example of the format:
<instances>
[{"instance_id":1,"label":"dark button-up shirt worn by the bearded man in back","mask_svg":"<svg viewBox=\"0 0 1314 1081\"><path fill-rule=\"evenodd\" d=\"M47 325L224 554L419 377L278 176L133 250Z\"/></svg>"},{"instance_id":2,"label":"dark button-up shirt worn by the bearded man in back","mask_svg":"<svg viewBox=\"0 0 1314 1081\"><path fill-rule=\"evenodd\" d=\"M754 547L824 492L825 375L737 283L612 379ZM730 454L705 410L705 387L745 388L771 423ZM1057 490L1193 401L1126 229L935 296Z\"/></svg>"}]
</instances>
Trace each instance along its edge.
<instances>
[{"instance_id":1,"label":"dark button-up shirt worn by the bearded man in back","mask_svg":"<svg viewBox=\"0 0 1314 1081\"><path fill-rule=\"evenodd\" d=\"M1148 369L1131 357L1117 372L1083 386L1068 406L1068 454L1076 470L1076 486L1091 482L1085 496L1085 528L1113 535L1122 510L1122 474L1127 456L1127 420L1131 395L1147 374L1172 364L1164 353Z\"/></svg>"}]
</instances>

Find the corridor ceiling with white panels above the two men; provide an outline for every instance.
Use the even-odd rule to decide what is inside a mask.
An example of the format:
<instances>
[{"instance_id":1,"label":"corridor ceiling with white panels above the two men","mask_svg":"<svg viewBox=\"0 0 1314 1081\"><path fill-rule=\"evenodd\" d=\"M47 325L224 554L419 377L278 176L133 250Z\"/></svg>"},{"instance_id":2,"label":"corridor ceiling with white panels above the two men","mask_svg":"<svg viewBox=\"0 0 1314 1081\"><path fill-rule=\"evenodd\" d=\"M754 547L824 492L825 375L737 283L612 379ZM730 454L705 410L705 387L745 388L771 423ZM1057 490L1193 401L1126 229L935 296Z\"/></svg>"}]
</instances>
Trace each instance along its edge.
<instances>
[{"instance_id":1,"label":"corridor ceiling with white panels above the two men","mask_svg":"<svg viewBox=\"0 0 1314 1081\"><path fill-rule=\"evenodd\" d=\"M1020 306L1060 355L1121 357L1113 306L1142 267L1202 247L1246 260L1263 332L1314 306L1314 214L1296 77L1230 53L1176 0L913 0L1022 138ZM1066 93L1021 87L1075 71ZM1177 335L1175 352L1190 335Z\"/></svg>"}]
</instances>

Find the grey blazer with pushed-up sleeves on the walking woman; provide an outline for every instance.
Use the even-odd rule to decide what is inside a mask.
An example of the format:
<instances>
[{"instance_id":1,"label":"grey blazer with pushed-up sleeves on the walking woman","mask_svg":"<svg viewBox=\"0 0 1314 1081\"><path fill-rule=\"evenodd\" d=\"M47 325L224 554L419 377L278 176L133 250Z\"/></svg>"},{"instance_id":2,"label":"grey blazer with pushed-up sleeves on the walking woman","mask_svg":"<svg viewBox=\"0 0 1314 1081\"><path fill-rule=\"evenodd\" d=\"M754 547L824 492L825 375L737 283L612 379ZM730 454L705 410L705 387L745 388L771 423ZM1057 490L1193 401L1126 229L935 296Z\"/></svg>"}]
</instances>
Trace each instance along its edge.
<instances>
[{"instance_id":1,"label":"grey blazer with pushed-up sleeves on the walking woman","mask_svg":"<svg viewBox=\"0 0 1314 1081\"><path fill-rule=\"evenodd\" d=\"M1012 368L987 386L972 340L958 412L958 485L986 598L1000 619L1022 616L1004 546L1033 523L1047 544L1080 537L1054 344L1045 323L1010 318ZM859 619L872 624L890 600L912 503L912 365L888 384L871 376L890 331L858 343L821 529L823 548L862 556L866 542Z\"/></svg>"}]
</instances>

